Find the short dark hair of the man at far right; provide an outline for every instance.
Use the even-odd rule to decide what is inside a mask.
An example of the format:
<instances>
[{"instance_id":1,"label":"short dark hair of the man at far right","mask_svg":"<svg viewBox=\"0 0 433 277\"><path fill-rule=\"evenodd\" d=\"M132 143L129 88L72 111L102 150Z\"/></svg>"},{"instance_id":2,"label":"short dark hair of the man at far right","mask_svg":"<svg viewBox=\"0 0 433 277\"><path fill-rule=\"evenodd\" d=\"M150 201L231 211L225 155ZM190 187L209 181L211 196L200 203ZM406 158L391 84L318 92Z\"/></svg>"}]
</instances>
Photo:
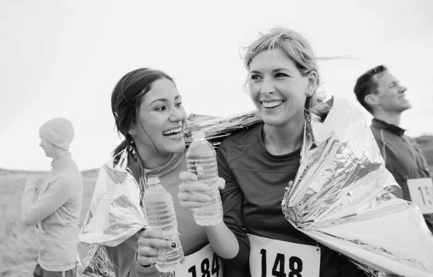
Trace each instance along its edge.
<instances>
[{"instance_id":1,"label":"short dark hair of the man at far right","mask_svg":"<svg viewBox=\"0 0 433 277\"><path fill-rule=\"evenodd\" d=\"M365 97L369 94L377 94L377 82L373 80L373 76L388 70L385 65L379 65L361 75L357 80L353 91L359 103L366 108L367 111L373 113L373 109L365 101Z\"/></svg>"}]
</instances>

